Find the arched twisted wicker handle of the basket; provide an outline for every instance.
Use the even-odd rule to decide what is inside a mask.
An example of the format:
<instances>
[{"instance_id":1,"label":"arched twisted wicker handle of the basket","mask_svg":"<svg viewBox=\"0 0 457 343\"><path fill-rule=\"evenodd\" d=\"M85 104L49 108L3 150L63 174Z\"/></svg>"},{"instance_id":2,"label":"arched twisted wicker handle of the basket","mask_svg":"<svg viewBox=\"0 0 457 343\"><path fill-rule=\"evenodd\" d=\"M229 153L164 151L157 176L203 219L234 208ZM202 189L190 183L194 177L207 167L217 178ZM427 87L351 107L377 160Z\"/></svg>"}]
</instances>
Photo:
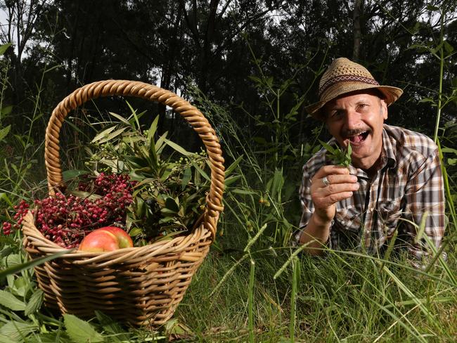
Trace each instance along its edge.
<instances>
[{"instance_id":1,"label":"arched twisted wicker handle of the basket","mask_svg":"<svg viewBox=\"0 0 457 343\"><path fill-rule=\"evenodd\" d=\"M149 101L157 101L167 105L178 112L205 144L211 168L211 186L207 195L204 224L212 233L212 239L216 235L216 224L219 213L222 211L222 193L224 193L224 158L222 157L221 145L214 129L195 106L177 96L171 91L144 82L128 80L106 80L86 84L73 91L69 96L60 101L54 108L48 127L46 128L44 159L48 178L49 195L55 195L56 189L65 186L63 183L62 169L60 169L59 156L59 133L65 117L71 110L75 110L86 101L101 96L134 96Z\"/></svg>"}]
</instances>

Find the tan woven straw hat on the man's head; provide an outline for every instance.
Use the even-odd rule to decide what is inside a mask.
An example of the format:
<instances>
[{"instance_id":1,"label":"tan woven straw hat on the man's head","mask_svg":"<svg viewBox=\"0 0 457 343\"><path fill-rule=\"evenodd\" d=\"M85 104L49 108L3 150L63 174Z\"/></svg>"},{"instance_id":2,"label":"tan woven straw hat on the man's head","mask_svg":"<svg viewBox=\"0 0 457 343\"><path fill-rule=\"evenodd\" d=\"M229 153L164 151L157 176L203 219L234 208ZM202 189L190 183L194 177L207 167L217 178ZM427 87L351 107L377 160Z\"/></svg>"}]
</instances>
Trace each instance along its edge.
<instances>
[{"instance_id":1,"label":"tan woven straw hat on the man's head","mask_svg":"<svg viewBox=\"0 0 457 343\"><path fill-rule=\"evenodd\" d=\"M316 119L323 119L321 108L338 96L362 89L378 89L385 96L387 106L396 101L403 91L397 87L380 86L365 67L341 57L333 60L319 82L319 101L305 110Z\"/></svg>"}]
</instances>

